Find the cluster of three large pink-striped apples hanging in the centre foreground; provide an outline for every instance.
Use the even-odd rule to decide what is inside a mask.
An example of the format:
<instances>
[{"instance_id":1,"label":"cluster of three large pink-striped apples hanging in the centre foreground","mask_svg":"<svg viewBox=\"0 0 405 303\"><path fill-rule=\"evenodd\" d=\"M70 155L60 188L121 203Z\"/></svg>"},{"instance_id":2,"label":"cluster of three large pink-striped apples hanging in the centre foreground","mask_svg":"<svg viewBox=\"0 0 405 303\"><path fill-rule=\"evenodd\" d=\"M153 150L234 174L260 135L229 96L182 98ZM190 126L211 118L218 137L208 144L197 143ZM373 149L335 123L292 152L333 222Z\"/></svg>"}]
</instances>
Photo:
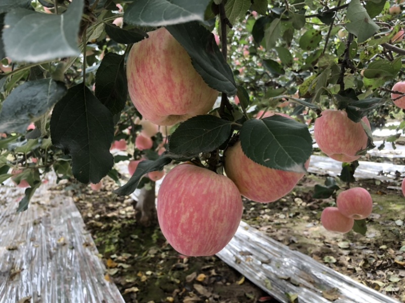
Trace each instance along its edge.
<instances>
[{"instance_id":1,"label":"cluster of three large pink-striped apples hanging in the centre foreground","mask_svg":"<svg viewBox=\"0 0 405 303\"><path fill-rule=\"evenodd\" d=\"M165 29L134 44L127 61L131 100L142 116L174 125L208 113L218 91L195 71L185 49ZM168 242L187 256L210 256L231 240L241 220L241 195L260 202L277 200L303 176L266 168L248 159L236 142L225 151L225 172L184 163L160 185L157 216Z\"/></svg>"}]
</instances>

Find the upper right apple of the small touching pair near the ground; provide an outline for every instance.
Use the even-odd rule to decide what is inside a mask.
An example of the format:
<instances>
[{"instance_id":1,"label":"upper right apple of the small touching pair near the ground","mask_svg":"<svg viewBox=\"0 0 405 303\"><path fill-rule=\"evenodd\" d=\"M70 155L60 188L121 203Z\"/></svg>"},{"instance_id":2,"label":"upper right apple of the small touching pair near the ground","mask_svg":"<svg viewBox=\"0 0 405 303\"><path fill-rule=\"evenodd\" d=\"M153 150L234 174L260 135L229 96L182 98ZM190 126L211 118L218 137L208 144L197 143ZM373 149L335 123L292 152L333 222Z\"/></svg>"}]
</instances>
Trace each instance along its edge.
<instances>
[{"instance_id":1,"label":"upper right apple of the small touching pair near the ground","mask_svg":"<svg viewBox=\"0 0 405 303\"><path fill-rule=\"evenodd\" d=\"M361 220L373 211L373 198L366 189L353 187L338 194L336 205L343 216Z\"/></svg>"}]
</instances>

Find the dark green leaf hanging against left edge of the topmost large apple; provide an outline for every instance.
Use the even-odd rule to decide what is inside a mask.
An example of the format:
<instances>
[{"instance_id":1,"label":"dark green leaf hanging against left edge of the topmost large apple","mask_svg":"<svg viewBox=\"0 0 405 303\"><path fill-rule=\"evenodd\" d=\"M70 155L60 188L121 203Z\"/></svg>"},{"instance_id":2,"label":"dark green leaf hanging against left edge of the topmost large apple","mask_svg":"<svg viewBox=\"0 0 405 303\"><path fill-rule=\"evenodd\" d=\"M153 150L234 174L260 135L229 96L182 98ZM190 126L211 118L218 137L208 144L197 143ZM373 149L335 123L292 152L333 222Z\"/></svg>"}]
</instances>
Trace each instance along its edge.
<instances>
[{"instance_id":1,"label":"dark green leaf hanging against left edge of the topmost large apple","mask_svg":"<svg viewBox=\"0 0 405 303\"><path fill-rule=\"evenodd\" d=\"M124 60L124 55L108 53L96 73L95 95L113 115L121 112L127 102L128 84Z\"/></svg>"}]
</instances>

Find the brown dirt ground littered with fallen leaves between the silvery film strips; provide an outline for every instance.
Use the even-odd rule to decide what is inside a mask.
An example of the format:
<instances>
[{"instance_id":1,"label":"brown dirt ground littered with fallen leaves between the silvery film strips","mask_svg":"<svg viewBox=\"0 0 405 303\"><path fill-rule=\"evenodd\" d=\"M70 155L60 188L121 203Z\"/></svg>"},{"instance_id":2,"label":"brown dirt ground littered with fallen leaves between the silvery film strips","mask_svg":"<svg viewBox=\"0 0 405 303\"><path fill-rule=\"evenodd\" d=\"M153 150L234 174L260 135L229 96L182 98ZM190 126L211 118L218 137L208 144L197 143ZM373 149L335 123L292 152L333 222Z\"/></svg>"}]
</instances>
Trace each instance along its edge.
<instances>
[{"instance_id":1,"label":"brown dirt ground littered with fallen leaves between the silvery film strips","mask_svg":"<svg viewBox=\"0 0 405 303\"><path fill-rule=\"evenodd\" d=\"M286 197L245 201L243 220L274 239L382 293L405 302L405 198L393 183L362 180L374 200L368 231L335 234L320 225L333 199L313 199L325 177L309 174ZM344 184L339 184L341 188ZM389 189L389 188L394 189ZM396 187L396 188L395 188ZM132 199L72 184L76 205L91 231L109 278L127 302L276 302L217 257L186 258L167 244L158 227L137 224Z\"/></svg>"}]
</instances>

